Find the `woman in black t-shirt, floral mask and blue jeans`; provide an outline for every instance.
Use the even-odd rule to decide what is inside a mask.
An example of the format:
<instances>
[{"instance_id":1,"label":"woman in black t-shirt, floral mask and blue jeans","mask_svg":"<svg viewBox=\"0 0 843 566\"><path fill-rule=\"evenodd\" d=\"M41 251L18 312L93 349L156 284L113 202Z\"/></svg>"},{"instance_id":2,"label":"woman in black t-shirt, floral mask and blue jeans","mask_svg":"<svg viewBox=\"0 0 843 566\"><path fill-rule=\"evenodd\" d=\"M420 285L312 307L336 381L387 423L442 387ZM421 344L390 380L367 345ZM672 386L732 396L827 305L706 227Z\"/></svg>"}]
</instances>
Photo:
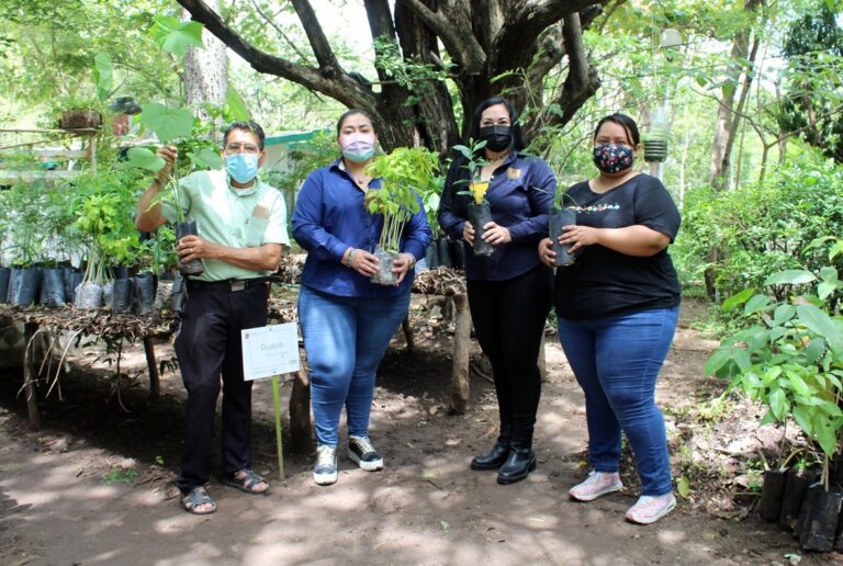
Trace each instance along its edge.
<instances>
[{"instance_id":1,"label":"woman in black t-shirt, floral mask and blue jeans","mask_svg":"<svg viewBox=\"0 0 843 566\"><path fill-rule=\"evenodd\" d=\"M640 147L634 121L606 116L594 134L599 174L569 189L576 225L559 241L573 265L559 268L559 338L585 393L592 472L569 494L591 501L622 487L621 430L636 454L641 497L627 520L649 524L675 506L664 417L655 382L676 329L679 282L667 246L679 213L661 181L632 168ZM539 257L553 264L549 238Z\"/></svg>"}]
</instances>

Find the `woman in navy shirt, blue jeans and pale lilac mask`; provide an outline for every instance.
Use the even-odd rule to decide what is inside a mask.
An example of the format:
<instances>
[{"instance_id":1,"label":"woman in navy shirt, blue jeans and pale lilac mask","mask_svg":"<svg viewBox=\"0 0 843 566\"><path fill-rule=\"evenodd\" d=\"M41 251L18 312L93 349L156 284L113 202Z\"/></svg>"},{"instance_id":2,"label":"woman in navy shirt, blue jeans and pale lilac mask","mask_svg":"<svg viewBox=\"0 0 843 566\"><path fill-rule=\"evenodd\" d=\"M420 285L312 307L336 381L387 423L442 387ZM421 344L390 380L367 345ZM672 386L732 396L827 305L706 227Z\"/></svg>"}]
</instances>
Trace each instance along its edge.
<instances>
[{"instance_id":1,"label":"woman in navy shirt, blue jeans and pale lilac mask","mask_svg":"<svg viewBox=\"0 0 843 566\"><path fill-rule=\"evenodd\" d=\"M366 173L376 135L372 118L349 110L337 123L341 157L312 172L293 214L293 237L307 250L299 291L299 321L311 369L311 399L316 421L319 485L337 480L339 416L346 407L348 456L362 469L383 467L369 439L374 377L390 339L407 313L416 258L430 241L424 207L404 227L401 253L393 262L395 286L371 283L378 271L372 253L383 216L364 207L367 191L380 179ZM420 204L420 201L419 201Z\"/></svg>"}]
</instances>

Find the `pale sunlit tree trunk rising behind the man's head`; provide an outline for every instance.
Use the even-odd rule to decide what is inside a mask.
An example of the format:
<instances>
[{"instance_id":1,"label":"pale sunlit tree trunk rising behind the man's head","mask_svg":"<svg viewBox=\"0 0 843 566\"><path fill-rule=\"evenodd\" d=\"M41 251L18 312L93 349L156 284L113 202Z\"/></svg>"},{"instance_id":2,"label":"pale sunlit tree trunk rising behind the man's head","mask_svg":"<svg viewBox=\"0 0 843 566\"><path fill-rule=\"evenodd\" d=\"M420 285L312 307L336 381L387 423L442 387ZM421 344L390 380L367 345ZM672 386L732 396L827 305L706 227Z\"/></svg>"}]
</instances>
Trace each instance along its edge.
<instances>
[{"instance_id":1,"label":"pale sunlit tree trunk rising behind the man's head","mask_svg":"<svg viewBox=\"0 0 843 566\"><path fill-rule=\"evenodd\" d=\"M220 12L220 0L206 0L206 4L214 12ZM184 10L184 16L190 18L188 10ZM202 42L205 44L202 49L192 46L188 48L182 80L188 105L195 109L196 115L203 121L210 121L211 116L203 104L225 104L225 94L228 91L228 57L225 44L212 33L203 31ZM214 138L220 137L221 125L217 120Z\"/></svg>"}]
</instances>

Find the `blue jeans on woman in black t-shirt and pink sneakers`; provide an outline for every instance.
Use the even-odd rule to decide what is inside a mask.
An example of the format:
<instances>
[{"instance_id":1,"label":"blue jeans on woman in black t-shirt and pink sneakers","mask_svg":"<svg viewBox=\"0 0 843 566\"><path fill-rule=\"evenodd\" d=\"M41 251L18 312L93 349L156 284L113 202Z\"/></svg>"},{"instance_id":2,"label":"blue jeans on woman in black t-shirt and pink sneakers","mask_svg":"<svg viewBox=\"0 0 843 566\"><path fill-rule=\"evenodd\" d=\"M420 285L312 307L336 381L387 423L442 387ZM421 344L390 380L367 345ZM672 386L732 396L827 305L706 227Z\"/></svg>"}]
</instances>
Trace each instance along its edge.
<instances>
[{"instance_id":1,"label":"blue jeans on woman in black t-shirt and pink sneakers","mask_svg":"<svg viewBox=\"0 0 843 566\"><path fill-rule=\"evenodd\" d=\"M622 430L636 454L641 495L673 490L655 382L678 310L640 310L594 320L559 318L562 349L585 393L592 466L597 472L618 471Z\"/></svg>"}]
</instances>

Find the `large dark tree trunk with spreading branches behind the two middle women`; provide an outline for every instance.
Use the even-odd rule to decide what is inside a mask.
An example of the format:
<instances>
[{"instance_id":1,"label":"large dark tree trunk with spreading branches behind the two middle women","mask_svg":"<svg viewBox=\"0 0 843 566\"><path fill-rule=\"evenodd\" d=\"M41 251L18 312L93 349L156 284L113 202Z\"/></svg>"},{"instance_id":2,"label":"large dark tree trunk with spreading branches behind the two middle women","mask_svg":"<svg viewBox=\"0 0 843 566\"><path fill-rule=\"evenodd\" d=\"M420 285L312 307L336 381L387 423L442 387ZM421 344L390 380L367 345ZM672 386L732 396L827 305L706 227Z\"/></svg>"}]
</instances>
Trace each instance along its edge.
<instances>
[{"instance_id":1,"label":"large dark tree trunk with spreading branches behind the two middle women","mask_svg":"<svg viewBox=\"0 0 843 566\"><path fill-rule=\"evenodd\" d=\"M445 152L469 131L474 106L505 91L521 111L525 92L569 57L567 80L557 101L529 101L542 106L557 102L561 115L549 122L564 125L599 86L585 57L582 27L591 23L608 0L364 0L372 37L397 39L404 60L448 71L459 92L462 122L441 78L414 84L379 70L380 90L337 60L308 0L291 0L307 34L317 66L294 63L249 44L202 0L178 0L193 20L248 61L259 72L283 77L348 107L371 113L385 149L422 143ZM553 48L559 36L564 49ZM442 45L449 57L441 56ZM541 53L542 56L537 58ZM547 55L546 55L547 54ZM533 64L533 61L536 61ZM527 69L525 71L525 69ZM495 79L504 76L503 80ZM539 107L541 110L541 107ZM537 113L539 114L539 113ZM547 116L546 116L547 117ZM529 123L524 126L530 129Z\"/></svg>"}]
</instances>

